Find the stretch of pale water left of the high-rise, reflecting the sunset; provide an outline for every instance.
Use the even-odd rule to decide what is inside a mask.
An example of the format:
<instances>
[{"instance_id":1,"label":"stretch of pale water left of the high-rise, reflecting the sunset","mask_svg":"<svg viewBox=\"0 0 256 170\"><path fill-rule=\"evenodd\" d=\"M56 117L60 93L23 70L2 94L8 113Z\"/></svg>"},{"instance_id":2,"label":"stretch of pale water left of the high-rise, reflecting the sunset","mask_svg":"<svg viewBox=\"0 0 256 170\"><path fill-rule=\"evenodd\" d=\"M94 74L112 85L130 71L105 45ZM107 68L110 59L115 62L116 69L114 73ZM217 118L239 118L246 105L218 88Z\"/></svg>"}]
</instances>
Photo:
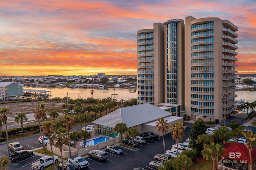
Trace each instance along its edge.
<instances>
[{"instance_id":1,"label":"stretch of pale water left of the high-rise, reflecting the sunset","mask_svg":"<svg viewBox=\"0 0 256 170\"><path fill-rule=\"evenodd\" d=\"M129 99L137 99L137 91L135 93L130 93L129 89L107 89L107 90L100 90L100 89L70 89L70 88L32 88L32 87L24 87L26 89L34 89L34 90L46 90L51 91L52 97L70 97L71 99L87 99L88 97L93 97L94 99L104 99L107 97L114 97L117 98L117 101L129 100ZM94 90L93 96L91 95L91 90ZM49 93L50 94L50 93ZM112 95L117 94L117 95Z\"/></svg>"}]
</instances>

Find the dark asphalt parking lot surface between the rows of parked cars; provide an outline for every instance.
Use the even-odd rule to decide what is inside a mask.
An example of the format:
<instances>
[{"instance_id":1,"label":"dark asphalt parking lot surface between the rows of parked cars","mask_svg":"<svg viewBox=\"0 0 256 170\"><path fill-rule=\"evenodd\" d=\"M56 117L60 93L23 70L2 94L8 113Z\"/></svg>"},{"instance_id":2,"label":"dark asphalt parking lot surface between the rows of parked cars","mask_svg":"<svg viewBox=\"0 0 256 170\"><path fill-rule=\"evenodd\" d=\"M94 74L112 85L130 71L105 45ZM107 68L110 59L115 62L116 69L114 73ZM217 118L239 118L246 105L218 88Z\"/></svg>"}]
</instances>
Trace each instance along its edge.
<instances>
[{"instance_id":1,"label":"dark asphalt parking lot surface between the rows of parked cars","mask_svg":"<svg viewBox=\"0 0 256 170\"><path fill-rule=\"evenodd\" d=\"M184 126L187 126L187 128L180 142L185 141L189 132L191 131L192 124L184 123ZM24 149L31 149L31 147L34 147L34 146L42 147L42 144L38 144L38 137L39 135L34 137L35 139L32 142L33 146L32 144L23 143L24 141L22 141L21 139L19 140L19 142L24 146ZM30 141L30 139L29 140L27 139L26 141ZM166 150L171 149L172 145L176 144L176 141L172 139L172 136L170 135L170 133L165 135L165 144L166 144ZM130 150L122 146L119 146L119 147L124 152L121 155L115 155L103 149L108 154L108 158L104 161L97 162L97 160L94 160L93 158L88 158L87 157L88 155L83 156L89 162L88 169L132 170L133 168L136 168L136 167L148 166L149 162L154 160L154 156L156 154L163 153L163 140L162 140L162 137L160 137L156 141L150 141L150 142L139 144L139 146L136 147L137 150ZM6 153L8 154L8 152ZM20 161L19 163L12 162L8 164L7 169L14 170L18 168L19 170L30 170L31 164L36 160L38 160L39 158L40 156L34 155L31 158Z\"/></svg>"}]
</instances>

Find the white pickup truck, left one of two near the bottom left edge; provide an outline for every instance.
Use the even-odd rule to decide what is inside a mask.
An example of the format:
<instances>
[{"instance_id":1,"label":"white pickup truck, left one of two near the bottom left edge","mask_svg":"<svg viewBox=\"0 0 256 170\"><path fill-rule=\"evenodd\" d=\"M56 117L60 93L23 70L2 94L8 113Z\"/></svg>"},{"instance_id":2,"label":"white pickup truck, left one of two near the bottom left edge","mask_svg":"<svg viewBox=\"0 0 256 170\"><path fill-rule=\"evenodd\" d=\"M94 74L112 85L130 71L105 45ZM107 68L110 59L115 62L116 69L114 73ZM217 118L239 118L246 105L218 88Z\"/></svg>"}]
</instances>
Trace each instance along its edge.
<instances>
[{"instance_id":1,"label":"white pickup truck, left one of two near the bottom left edge","mask_svg":"<svg viewBox=\"0 0 256 170\"><path fill-rule=\"evenodd\" d=\"M58 156L54 155L54 162L58 163ZM44 156L40 160L32 163L34 170L43 170L46 166L53 164L52 156Z\"/></svg>"}]
</instances>

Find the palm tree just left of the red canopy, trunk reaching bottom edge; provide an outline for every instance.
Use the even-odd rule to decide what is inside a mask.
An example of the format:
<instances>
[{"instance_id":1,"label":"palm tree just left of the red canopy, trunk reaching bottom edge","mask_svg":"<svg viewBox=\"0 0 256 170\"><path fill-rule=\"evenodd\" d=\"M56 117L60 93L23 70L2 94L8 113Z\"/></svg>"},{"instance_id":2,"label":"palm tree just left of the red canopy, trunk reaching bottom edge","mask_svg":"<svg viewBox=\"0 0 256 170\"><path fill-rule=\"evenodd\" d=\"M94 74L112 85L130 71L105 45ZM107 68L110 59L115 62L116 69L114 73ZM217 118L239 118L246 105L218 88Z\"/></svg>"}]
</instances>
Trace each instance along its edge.
<instances>
[{"instance_id":1,"label":"palm tree just left of the red canopy, trunk reaching bottom edge","mask_svg":"<svg viewBox=\"0 0 256 170\"><path fill-rule=\"evenodd\" d=\"M225 149L222 148L221 144L206 144L205 148L202 150L202 155L209 160L212 158L212 169L216 170L216 159L218 154L224 154Z\"/></svg>"}]
</instances>

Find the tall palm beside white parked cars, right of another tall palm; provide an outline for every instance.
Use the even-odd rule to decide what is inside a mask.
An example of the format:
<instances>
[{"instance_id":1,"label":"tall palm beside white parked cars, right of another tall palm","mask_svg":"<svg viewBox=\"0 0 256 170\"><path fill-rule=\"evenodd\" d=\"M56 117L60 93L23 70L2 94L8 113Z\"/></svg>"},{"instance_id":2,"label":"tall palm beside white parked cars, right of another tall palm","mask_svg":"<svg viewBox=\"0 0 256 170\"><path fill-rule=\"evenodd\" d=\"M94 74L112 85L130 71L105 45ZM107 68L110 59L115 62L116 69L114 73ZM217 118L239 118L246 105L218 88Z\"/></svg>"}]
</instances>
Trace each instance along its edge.
<instances>
[{"instance_id":1,"label":"tall palm beside white parked cars, right of another tall palm","mask_svg":"<svg viewBox=\"0 0 256 170\"><path fill-rule=\"evenodd\" d=\"M178 146L179 146L179 140L182 139L182 136L184 135L185 127L180 122L172 123L170 125L170 130L172 131L172 139L176 140L177 144L177 154L179 154Z\"/></svg>"}]
</instances>

